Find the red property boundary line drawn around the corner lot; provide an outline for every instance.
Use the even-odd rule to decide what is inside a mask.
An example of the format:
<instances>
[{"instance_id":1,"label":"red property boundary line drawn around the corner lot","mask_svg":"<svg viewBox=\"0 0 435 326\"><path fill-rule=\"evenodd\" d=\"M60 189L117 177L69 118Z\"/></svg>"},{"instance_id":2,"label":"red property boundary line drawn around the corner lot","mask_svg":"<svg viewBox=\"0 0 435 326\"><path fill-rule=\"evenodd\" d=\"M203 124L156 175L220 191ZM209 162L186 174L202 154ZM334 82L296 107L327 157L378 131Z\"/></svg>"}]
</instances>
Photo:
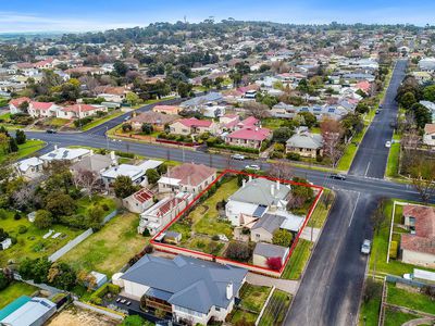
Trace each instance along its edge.
<instances>
[{"instance_id":1,"label":"red property boundary line drawn around the corner lot","mask_svg":"<svg viewBox=\"0 0 435 326\"><path fill-rule=\"evenodd\" d=\"M314 202L312 203L310 210L308 211L308 214L307 214L307 216L306 216L306 218L304 218L304 221L303 221L303 224L302 224L301 228L299 229L298 234L297 234L296 237L295 237L295 240L293 241L293 244L291 244L290 250L289 250L289 252L288 252L287 259L286 259L285 263L283 264L283 266L281 267L279 271L275 271L275 269L272 269L272 268L268 268L268 267L263 267L263 266L258 266L258 265L253 265L253 264L241 263L241 262L237 262L237 261L234 261L234 260L229 260L229 259L226 259L226 258L223 258L223 256L217 256L217 255L204 253L204 252L201 252L201 251L196 251L196 250L191 250L191 249L186 249L186 248L182 248L182 247L172 246L172 244L167 244L167 243L162 243L162 242L156 241L156 238L158 238L162 233L164 233L165 230L167 230L174 223L176 223L176 222L183 216L184 213L186 213L191 206L194 206L194 205L196 204L196 202L197 202L207 191L209 191L209 189L210 189L214 184L216 184L221 178L223 178L223 177L224 177L225 175L227 175L227 174L246 175L246 176L251 176L251 177L254 177L254 178L265 178L265 179L269 179L269 180L279 181L279 183L287 184L287 185L304 186L304 187L310 187L310 188L314 188L314 189L318 189L318 190L319 190L319 193L315 196ZM213 180L213 183L211 183L206 189L203 189L200 193L198 193L198 195L194 198L194 200L192 200L183 211L181 211L181 212L179 212L179 213L178 213L178 214L177 214L162 230L161 230L161 231L159 231L159 233L150 240L150 243L152 243L152 244L154 244L154 246L158 246L158 247L163 247L163 248L165 248L165 250L164 250L164 249L159 249L159 248L157 248L157 249L160 250L160 251L166 251L166 252L175 253L175 254L178 254L178 253L177 253L177 252L174 252L174 251L182 251L182 252L186 252L186 253L194 254L195 256L207 258L208 260L211 260L211 261L219 260L219 261L223 261L223 262L228 262L229 264L233 264L233 265L236 265L236 266L238 266L238 265L246 266L248 269L250 269L250 271L252 271L252 272L256 272L254 269L260 269L260 271L264 271L264 273L266 273L268 275L270 275L270 274L275 274L275 275L276 275L276 274L279 274L279 275L281 275L281 274L284 272L285 267L287 266L287 263L288 263L288 261L289 261L289 259L290 259L290 256L291 256L291 254L293 254L293 252L294 252L294 250L295 250L297 243L299 242L300 235L302 234L302 230L303 230L304 227L307 226L308 221L310 220L312 213L314 212L314 209L315 209L315 206L318 205L318 202L319 202L319 200L320 200L320 197L321 197L322 193L323 193L323 190L324 190L324 188L321 187L321 186L315 186L315 185L310 185L310 184L302 184L302 183L295 183L295 181L293 181L293 180L279 179L279 178L275 178L275 177L262 176L262 175L257 175L257 174L251 174L251 173L246 173L246 172L241 172L241 171L237 171L237 170L228 170L228 168L227 168L227 170L224 170L224 171ZM252 269L252 268L254 268L254 269ZM257 272L257 273L259 273L259 272ZM279 276L279 275L278 275L278 276Z\"/></svg>"}]
</instances>

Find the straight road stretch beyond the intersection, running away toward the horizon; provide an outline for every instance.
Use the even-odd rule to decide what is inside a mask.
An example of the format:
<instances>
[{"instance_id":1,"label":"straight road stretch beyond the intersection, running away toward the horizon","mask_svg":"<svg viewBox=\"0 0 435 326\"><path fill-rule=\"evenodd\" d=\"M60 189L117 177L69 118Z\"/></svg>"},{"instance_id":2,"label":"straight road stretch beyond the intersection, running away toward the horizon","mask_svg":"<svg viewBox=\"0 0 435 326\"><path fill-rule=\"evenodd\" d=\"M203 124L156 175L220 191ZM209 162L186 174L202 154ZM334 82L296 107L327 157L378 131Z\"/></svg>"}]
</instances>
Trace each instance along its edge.
<instances>
[{"instance_id":1,"label":"straight road stretch beyond the intersection, running away toward the horizon","mask_svg":"<svg viewBox=\"0 0 435 326\"><path fill-rule=\"evenodd\" d=\"M349 174L384 178L389 149L385 147L393 138L390 122L396 121L398 104L395 100L397 89L403 80L407 61L397 61L391 82L385 95L385 101L380 114L376 114L372 124L360 143L357 155L350 166Z\"/></svg>"}]
</instances>

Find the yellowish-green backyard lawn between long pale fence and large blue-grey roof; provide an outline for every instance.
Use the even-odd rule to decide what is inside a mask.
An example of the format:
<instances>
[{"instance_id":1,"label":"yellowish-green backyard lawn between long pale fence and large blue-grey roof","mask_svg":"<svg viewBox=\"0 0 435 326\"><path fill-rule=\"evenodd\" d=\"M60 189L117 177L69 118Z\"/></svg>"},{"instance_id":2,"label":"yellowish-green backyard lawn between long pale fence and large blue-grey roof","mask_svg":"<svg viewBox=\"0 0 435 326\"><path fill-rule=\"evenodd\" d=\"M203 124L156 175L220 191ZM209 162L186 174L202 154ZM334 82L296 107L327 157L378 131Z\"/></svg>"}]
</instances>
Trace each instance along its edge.
<instances>
[{"instance_id":1,"label":"yellowish-green backyard lawn between long pale fence and large blue-grey roof","mask_svg":"<svg viewBox=\"0 0 435 326\"><path fill-rule=\"evenodd\" d=\"M61 261L67 262L77 271L97 271L110 277L147 244L149 238L137 233L138 225L139 218L136 214L117 215L62 256Z\"/></svg>"}]
</instances>

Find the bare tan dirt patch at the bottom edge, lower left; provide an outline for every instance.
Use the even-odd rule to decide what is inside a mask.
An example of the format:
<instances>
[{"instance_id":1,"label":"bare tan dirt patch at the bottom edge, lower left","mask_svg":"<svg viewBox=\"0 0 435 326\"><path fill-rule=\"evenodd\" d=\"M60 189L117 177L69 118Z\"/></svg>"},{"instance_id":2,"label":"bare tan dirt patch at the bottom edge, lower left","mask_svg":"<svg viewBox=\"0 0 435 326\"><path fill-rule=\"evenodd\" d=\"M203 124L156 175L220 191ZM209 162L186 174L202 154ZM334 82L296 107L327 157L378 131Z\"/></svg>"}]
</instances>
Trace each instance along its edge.
<instances>
[{"instance_id":1,"label":"bare tan dirt patch at the bottom edge, lower left","mask_svg":"<svg viewBox=\"0 0 435 326\"><path fill-rule=\"evenodd\" d=\"M119 321L112 319L105 315L98 314L92 311L71 306L60 314L55 315L47 324L48 326L115 326L120 325Z\"/></svg>"}]
</instances>

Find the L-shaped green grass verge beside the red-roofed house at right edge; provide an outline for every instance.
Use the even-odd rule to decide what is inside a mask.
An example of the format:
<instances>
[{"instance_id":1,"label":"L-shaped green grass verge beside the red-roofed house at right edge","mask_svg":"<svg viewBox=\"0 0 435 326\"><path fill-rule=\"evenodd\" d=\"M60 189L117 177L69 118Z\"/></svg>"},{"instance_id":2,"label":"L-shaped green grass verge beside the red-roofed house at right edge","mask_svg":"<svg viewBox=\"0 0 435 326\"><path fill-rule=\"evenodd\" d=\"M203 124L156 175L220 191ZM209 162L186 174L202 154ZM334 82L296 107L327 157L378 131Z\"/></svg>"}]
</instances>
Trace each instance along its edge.
<instances>
[{"instance_id":1,"label":"L-shaped green grass verge beside the red-roofed house at right edge","mask_svg":"<svg viewBox=\"0 0 435 326\"><path fill-rule=\"evenodd\" d=\"M371 273L375 272L378 275L391 274L391 275L402 276L406 273L412 273L415 266L393 259L389 260L389 263L387 263L386 261L388 254L389 228L393 218L393 204L394 204L393 199L387 200L387 204L385 206L385 215L387 216L386 221L382 225L381 229L374 233L372 242L372 252L370 255L370 272ZM425 267L419 267L419 268L431 271L430 268Z\"/></svg>"}]
</instances>

